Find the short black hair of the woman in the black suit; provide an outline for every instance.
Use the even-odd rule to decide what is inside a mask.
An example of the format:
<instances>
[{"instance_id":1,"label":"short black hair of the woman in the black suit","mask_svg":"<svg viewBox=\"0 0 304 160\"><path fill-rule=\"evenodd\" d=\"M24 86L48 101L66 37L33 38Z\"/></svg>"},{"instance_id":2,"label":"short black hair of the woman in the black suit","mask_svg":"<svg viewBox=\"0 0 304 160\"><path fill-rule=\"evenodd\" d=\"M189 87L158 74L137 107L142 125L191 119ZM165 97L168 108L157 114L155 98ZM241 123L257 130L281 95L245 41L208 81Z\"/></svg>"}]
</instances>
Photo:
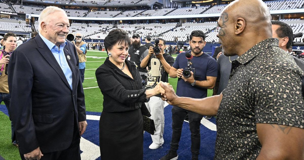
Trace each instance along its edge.
<instances>
[{"instance_id":1,"label":"short black hair of the woman in the black suit","mask_svg":"<svg viewBox=\"0 0 304 160\"><path fill-rule=\"evenodd\" d=\"M115 29L111 30L107 37L105 37L104 45L105 50L108 53L108 49L111 50L114 44L125 44L126 46L129 46L131 44L131 39L129 37L129 34L122 30L122 29Z\"/></svg>"}]
</instances>

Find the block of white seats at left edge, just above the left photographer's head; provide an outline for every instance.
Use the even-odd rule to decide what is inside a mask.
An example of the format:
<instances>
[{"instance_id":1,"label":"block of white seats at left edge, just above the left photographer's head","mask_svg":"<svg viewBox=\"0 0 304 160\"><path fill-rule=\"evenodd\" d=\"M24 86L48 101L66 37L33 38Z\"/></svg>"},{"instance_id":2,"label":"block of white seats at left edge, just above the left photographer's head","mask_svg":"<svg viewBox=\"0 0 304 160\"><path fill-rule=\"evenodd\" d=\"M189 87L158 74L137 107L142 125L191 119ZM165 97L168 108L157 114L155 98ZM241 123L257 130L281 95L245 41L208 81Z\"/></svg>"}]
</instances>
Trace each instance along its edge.
<instances>
[{"instance_id":1,"label":"block of white seats at left edge, just above the left photographer's head","mask_svg":"<svg viewBox=\"0 0 304 160\"><path fill-rule=\"evenodd\" d=\"M11 32L32 32L32 28L24 23L0 22L0 30Z\"/></svg>"}]
</instances>

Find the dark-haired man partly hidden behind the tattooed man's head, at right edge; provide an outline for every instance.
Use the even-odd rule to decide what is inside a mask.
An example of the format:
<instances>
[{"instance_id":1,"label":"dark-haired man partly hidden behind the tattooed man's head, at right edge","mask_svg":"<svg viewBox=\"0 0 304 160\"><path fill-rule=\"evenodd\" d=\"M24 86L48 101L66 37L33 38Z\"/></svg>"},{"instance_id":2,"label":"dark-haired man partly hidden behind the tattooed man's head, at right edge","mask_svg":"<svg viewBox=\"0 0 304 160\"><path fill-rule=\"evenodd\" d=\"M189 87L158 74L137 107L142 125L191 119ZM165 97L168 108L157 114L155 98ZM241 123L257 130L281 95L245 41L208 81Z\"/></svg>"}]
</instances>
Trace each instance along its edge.
<instances>
[{"instance_id":1,"label":"dark-haired man partly hidden behind the tattooed man's head, at right edge","mask_svg":"<svg viewBox=\"0 0 304 160\"><path fill-rule=\"evenodd\" d=\"M292 46L293 41L293 31L292 28L278 20L272 20L272 37L279 39L279 47L283 49L285 52L288 52L288 49ZM296 57L293 57L295 60L295 63L304 71L304 61L301 59L298 59Z\"/></svg>"}]
</instances>

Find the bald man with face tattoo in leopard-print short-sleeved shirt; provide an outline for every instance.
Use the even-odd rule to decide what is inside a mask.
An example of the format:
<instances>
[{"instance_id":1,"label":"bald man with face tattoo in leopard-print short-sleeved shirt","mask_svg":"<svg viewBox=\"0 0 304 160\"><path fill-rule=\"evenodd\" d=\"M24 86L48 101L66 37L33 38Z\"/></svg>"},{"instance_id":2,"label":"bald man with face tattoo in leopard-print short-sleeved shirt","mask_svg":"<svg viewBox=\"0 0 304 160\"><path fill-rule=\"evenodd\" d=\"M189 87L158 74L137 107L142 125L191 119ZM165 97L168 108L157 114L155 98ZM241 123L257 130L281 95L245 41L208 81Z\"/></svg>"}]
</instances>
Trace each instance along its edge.
<instances>
[{"instance_id":1,"label":"bald man with face tattoo in leopard-print short-sleeved shirt","mask_svg":"<svg viewBox=\"0 0 304 160\"><path fill-rule=\"evenodd\" d=\"M236 0L217 23L223 54L239 56L226 89L191 99L162 86L164 100L217 116L215 160L304 159L304 72L272 38L269 8L262 0Z\"/></svg>"}]
</instances>

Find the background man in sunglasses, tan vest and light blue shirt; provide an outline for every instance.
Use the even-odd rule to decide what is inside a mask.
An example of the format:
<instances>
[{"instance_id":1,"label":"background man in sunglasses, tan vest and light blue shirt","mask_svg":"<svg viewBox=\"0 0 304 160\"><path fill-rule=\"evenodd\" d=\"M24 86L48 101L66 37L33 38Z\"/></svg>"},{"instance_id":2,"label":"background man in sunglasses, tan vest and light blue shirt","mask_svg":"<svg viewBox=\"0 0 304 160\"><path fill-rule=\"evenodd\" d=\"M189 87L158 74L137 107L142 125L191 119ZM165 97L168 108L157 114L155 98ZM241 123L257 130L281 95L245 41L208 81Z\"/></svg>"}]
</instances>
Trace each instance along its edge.
<instances>
[{"instance_id":1,"label":"background man in sunglasses, tan vest and light blue shirt","mask_svg":"<svg viewBox=\"0 0 304 160\"><path fill-rule=\"evenodd\" d=\"M72 41L72 43L75 45L76 51L78 53L79 58L79 71L80 71L80 77L81 82L85 80L85 62L87 61L86 53L87 53L87 45L84 41L82 41L82 35L81 33L75 34L75 41Z\"/></svg>"}]
</instances>

